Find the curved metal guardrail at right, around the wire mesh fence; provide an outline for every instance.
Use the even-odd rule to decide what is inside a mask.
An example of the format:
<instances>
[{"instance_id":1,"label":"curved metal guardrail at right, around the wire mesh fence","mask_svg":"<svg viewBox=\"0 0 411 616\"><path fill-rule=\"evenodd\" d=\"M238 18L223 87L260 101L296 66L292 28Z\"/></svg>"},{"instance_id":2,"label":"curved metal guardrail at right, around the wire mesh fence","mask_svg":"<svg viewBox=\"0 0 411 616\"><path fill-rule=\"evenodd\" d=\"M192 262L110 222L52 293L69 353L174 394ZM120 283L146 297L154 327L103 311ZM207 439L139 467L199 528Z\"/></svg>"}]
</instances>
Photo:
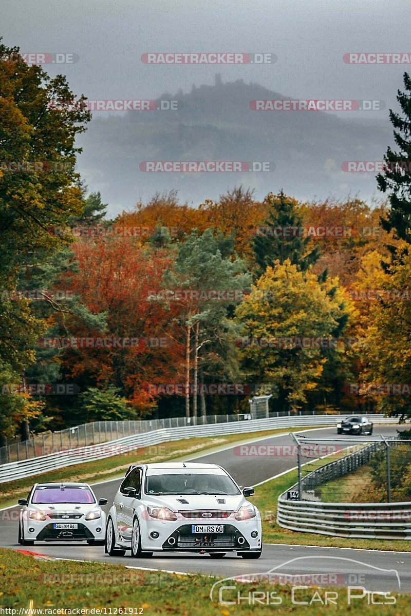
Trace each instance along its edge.
<instances>
[{"instance_id":1,"label":"curved metal guardrail at right, around the wire mesh fence","mask_svg":"<svg viewBox=\"0 0 411 616\"><path fill-rule=\"evenodd\" d=\"M398 441L393 444L396 443ZM411 540L409 502L325 503L310 500L313 498L310 490L356 470L370 460L373 452L385 447L385 442L373 442L309 473L301 482L305 500L287 500L287 492L298 492L298 483L279 496L277 524L288 530L331 537Z\"/></svg>"}]
</instances>

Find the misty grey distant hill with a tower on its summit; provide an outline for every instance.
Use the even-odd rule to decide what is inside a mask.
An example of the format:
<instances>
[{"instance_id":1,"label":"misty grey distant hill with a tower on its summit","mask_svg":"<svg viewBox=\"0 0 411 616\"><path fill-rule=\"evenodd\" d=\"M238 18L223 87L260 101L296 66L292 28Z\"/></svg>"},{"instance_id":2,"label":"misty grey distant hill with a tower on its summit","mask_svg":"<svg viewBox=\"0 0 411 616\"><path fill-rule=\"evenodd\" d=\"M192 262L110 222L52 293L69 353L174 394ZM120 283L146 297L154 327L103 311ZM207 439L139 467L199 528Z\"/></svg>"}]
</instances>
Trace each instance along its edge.
<instances>
[{"instance_id":1,"label":"misty grey distant hill with a tower on its summit","mask_svg":"<svg viewBox=\"0 0 411 616\"><path fill-rule=\"evenodd\" d=\"M254 99L286 99L279 92L242 79L193 87L189 94L165 93L177 111L94 112L79 139L84 148L79 171L91 190L100 190L118 212L157 190L177 188L181 200L198 205L243 184L255 195L283 188L298 198L376 193L374 174L341 171L348 160L382 160L393 143L391 126L381 120L344 119L320 111L252 111ZM388 114L387 114L388 115ZM346 118L346 119L345 119ZM142 161L272 161L274 172L147 173Z\"/></svg>"}]
</instances>

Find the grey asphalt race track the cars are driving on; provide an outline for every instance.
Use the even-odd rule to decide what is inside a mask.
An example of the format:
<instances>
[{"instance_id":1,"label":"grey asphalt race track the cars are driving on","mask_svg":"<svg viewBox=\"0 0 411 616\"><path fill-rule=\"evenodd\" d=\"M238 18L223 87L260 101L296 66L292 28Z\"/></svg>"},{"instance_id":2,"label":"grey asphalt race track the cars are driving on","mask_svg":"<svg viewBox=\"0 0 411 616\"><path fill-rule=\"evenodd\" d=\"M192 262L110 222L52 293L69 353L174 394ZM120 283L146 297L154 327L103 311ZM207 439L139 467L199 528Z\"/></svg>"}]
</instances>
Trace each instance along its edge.
<instances>
[{"instance_id":1,"label":"grey asphalt race track the cars are driving on","mask_svg":"<svg viewBox=\"0 0 411 616\"><path fill-rule=\"evenodd\" d=\"M396 436L399 426L375 426L374 434L370 440L378 434L384 436ZM301 433L307 437L336 436L336 429L313 429ZM352 442L352 437L338 436ZM238 436L241 439L241 435ZM269 437L258 439L259 445L290 445L293 439L290 436ZM250 436L250 444L253 443ZM296 466L295 456L238 456L234 448L230 447L217 453L206 456L189 456L187 460L204 461L207 463L221 464L234 476L240 485L256 485L280 472ZM94 485L97 498L108 498L109 505L115 496L119 480L104 482ZM256 488L258 492L258 487ZM18 510L18 507L15 508ZM10 521L10 513L14 509L2 512L0 522L0 545L6 548L22 548L17 544L18 522ZM301 536L301 535L300 535ZM338 585L363 585L368 590L399 590L398 577L401 580L401 591L411 591L411 553L404 552L381 552L358 549L322 548L314 546L296 545L272 545L264 544L262 556L256 561L248 561L227 554L224 559L211 559L208 555L201 554L170 554L157 553L152 558L132 559L129 556L109 557L104 554L104 548L87 546L83 543L46 543L39 542L33 547L22 548L48 554L54 557L91 560L100 562L117 562L131 567L144 569L162 569L173 572L197 572L209 575L222 575L231 577L246 573L265 573L278 567L281 573L337 573ZM295 560L296 559L296 560ZM290 562L294 560L294 562ZM288 564L287 564L288 563ZM397 576L397 573L398 576ZM361 577L364 576L364 577ZM210 580L210 588L213 580Z\"/></svg>"}]
</instances>

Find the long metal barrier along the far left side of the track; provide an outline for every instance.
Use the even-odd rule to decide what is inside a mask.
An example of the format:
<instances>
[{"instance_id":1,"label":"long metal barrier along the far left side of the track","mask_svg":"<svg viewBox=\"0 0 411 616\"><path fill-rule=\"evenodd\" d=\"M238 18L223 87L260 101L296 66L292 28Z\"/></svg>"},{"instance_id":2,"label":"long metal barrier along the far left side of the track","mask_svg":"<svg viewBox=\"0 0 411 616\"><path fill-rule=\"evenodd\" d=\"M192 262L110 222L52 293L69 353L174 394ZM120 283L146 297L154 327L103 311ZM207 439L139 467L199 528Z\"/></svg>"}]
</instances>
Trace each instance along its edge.
<instances>
[{"instance_id":1,"label":"long metal barrier along the far left side of the track","mask_svg":"<svg viewBox=\"0 0 411 616\"><path fill-rule=\"evenodd\" d=\"M342 415L346 417L346 415ZM99 445L71 448L46 456L10 462L0 466L0 483L14 479L23 479L54 469L65 468L73 464L101 460L120 453L130 452L133 448L158 445L169 440L189 439L201 436L222 436L224 434L248 434L260 430L279 428L298 428L315 426L335 426L341 417L339 415L291 416L273 417L268 419L251 419L246 421L208 424L205 426L184 426L181 428L162 428L134 434L121 439L115 439ZM383 415L368 415L374 423L398 423L396 418L386 418ZM131 459L132 462L132 459Z\"/></svg>"}]
</instances>

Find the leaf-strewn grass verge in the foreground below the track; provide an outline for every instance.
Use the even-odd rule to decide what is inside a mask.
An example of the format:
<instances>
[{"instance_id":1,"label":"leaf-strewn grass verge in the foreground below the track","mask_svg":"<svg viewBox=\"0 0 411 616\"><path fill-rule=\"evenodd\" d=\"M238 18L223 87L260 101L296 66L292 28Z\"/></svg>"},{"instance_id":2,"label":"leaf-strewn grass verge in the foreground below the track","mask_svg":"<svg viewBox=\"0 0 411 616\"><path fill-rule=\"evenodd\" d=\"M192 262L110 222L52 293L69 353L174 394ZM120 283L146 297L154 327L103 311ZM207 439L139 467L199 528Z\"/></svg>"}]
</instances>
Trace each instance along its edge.
<instances>
[{"instance_id":1,"label":"leaf-strewn grass verge in the foreground below the track","mask_svg":"<svg viewBox=\"0 0 411 616\"><path fill-rule=\"evenodd\" d=\"M30 614L28 610L42 610L32 614L76 614L76 609L95 609L94 614L153 616L178 614L179 616L230 616L231 614L298 614L317 616L324 602L326 588L316 586L298 590L295 601L314 601L311 605L297 605L291 601L291 586L257 583L238 584L235 590L224 591L223 601L236 601L233 605L218 602L218 593L210 599L211 586L218 578L206 575L176 575L160 572L126 569L124 565L101 564L98 562L45 561L0 549L0 607L15 610L8 613ZM264 569L264 568L263 568ZM230 582L233 585L233 582ZM242 599L237 604L237 592ZM252 595L259 593L259 601L253 604ZM327 606L327 614L336 612L354 616L410 616L411 604L406 594L391 593L396 597L394 605L368 605L367 598L357 599L348 606L348 590L328 589L336 605ZM261 604L261 593L269 596L271 605ZM271 595L269 593L276 593ZM335 596L335 593L338 593ZM277 604L272 598L275 596ZM255 594L254 594L255 597ZM279 600L281 602L279 603ZM381 596L378 601L382 601ZM96 609L104 609L97 612ZM20 612L20 610L27 610ZM63 611L65 610L65 611ZM70 612L74 610L74 612ZM54 612L58 614L59 612ZM81 613L81 612L80 612ZM85 612L84 612L85 613Z\"/></svg>"}]
</instances>

